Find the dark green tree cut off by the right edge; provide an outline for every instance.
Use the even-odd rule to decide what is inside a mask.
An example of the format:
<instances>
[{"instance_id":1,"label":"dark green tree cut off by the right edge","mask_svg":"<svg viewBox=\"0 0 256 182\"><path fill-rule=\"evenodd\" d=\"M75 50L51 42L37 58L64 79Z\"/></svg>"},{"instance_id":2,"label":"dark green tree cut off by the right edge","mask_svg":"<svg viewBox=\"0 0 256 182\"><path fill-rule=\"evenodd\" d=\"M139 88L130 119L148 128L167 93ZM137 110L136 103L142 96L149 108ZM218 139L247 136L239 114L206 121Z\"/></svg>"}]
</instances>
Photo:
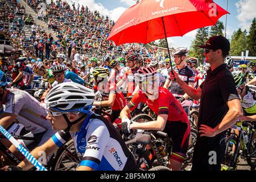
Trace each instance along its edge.
<instances>
[{"instance_id":1,"label":"dark green tree cut off by the right edge","mask_svg":"<svg viewBox=\"0 0 256 182\"><path fill-rule=\"evenodd\" d=\"M249 56L256 56L256 18L251 22L249 35L246 40L246 50L249 50Z\"/></svg>"}]
</instances>

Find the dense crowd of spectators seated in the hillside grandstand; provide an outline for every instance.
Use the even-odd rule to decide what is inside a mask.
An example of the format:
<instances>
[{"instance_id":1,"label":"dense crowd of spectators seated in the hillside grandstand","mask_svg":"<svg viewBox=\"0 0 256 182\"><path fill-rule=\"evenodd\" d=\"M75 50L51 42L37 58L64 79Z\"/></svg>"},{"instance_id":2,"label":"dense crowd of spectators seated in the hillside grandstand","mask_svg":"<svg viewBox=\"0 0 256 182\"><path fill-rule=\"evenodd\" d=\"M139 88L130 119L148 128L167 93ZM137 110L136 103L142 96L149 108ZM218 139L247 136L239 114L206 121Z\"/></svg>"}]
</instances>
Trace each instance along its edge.
<instances>
[{"instance_id":1,"label":"dense crowd of spectators seated in the hillside grandstand","mask_svg":"<svg viewBox=\"0 0 256 182\"><path fill-rule=\"evenodd\" d=\"M97 57L99 60L105 54L115 57L125 57L129 52L136 52L145 59L164 60L168 56L158 47L147 49L143 44L123 44L115 46L106 41L114 21L98 11L90 11L87 6L70 6L66 1L57 0L47 5L42 0L27 0L28 5L37 12L43 12L42 19L48 28L57 32L57 40L47 34L43 26L35 23L31 15L24 12L24 7L15 0L1 1L0 28L3 32L26 48L35 57L44 60L56 59L59 53L67 55L68 60L88 60ZM10 11L4 11L6 8ZM2 16L1 16L2 15ZM5 24L6 23L6 24ZM26 37L23 31L24 24L31 27L31 35ZM1 38L4 40L5 38ZM31 58L31 57L30 57Z\"/></svg>"}]
</instances>

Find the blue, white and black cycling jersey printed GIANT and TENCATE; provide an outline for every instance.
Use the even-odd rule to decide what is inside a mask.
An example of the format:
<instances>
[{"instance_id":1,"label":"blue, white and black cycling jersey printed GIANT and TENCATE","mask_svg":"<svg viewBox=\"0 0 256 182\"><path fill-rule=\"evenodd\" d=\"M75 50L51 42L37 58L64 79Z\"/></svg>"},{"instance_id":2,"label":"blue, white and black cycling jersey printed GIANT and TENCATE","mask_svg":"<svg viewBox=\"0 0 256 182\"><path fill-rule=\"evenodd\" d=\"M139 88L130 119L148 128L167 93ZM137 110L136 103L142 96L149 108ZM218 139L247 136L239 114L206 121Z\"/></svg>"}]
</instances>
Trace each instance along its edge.
<instances>
[{"instance_id":1,"label":"blue, white and black cycling jersey printed GIANT and TENCATE","mask_svg":"<svg viewBox=\"0 0 256 182\"><path fill-rule=\"evenodd\" d=\"M73 138L76 151L82 156L80 166L94 170L127 171L135 170L133 154L127 148L117 129L100 115L89 113L79 132L59 131L52 140L57 146Z\"/></svg>"}]
</instances>

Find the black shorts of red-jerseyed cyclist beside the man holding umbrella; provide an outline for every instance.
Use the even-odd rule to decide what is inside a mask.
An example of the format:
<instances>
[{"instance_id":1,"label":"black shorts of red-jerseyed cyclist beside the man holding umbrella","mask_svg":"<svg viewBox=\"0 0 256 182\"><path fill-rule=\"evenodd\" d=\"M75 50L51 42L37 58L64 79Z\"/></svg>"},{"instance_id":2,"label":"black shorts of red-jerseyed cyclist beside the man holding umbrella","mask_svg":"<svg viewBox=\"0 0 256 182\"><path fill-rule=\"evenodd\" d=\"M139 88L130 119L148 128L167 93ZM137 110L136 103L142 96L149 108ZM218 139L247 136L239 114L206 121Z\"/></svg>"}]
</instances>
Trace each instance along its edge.
<instances>
[{"instance_id":1,"label":"black shorts of red-jerseyed cyclist beside the man holding umbrella","mask_svg":"<svg viewBox=\"0 0 256 182\"><path fill-rule=\"evenodd\" d=\"M167 121L163 131L173 142L171 158L182 162L188 151L190 125L181 121Z\"/></svg>"}]
</instances>

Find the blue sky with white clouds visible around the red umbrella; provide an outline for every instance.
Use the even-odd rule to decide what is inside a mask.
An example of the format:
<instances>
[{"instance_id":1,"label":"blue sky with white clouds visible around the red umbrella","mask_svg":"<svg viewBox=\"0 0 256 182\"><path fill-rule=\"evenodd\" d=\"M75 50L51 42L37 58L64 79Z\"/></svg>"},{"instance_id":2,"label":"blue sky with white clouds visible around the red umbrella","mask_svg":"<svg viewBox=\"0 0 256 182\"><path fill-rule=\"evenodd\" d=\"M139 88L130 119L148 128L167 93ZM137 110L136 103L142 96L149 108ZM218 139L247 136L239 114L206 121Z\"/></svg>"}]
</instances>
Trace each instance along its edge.
<instances>
[{"instance_id":1,"label":"blue sky with white clouds visible around the red umbrella","mask_svg":"<svg viewBox=\"0 0 256 182\"><path fill-rule=\"evenodd\" d=\"M177 0L178 1L178 0ZM117 20L118 17L135 4L134 0L68 0L87 5L89 9L98 10L104 15L108 15L111 19ZM214 0L215 3L226 9L226 0ZM228 22L226 34L227 38L231 38L234 31L238 28L249 30L251 20L256 17L256 1L255 0L228 0ZM225 16L220 20L225 23ZM183 37L168 38L168 42L173 47L191 46L191 40L195 38L196 30L191 31Z\"/></svg>"}]
</instances>

